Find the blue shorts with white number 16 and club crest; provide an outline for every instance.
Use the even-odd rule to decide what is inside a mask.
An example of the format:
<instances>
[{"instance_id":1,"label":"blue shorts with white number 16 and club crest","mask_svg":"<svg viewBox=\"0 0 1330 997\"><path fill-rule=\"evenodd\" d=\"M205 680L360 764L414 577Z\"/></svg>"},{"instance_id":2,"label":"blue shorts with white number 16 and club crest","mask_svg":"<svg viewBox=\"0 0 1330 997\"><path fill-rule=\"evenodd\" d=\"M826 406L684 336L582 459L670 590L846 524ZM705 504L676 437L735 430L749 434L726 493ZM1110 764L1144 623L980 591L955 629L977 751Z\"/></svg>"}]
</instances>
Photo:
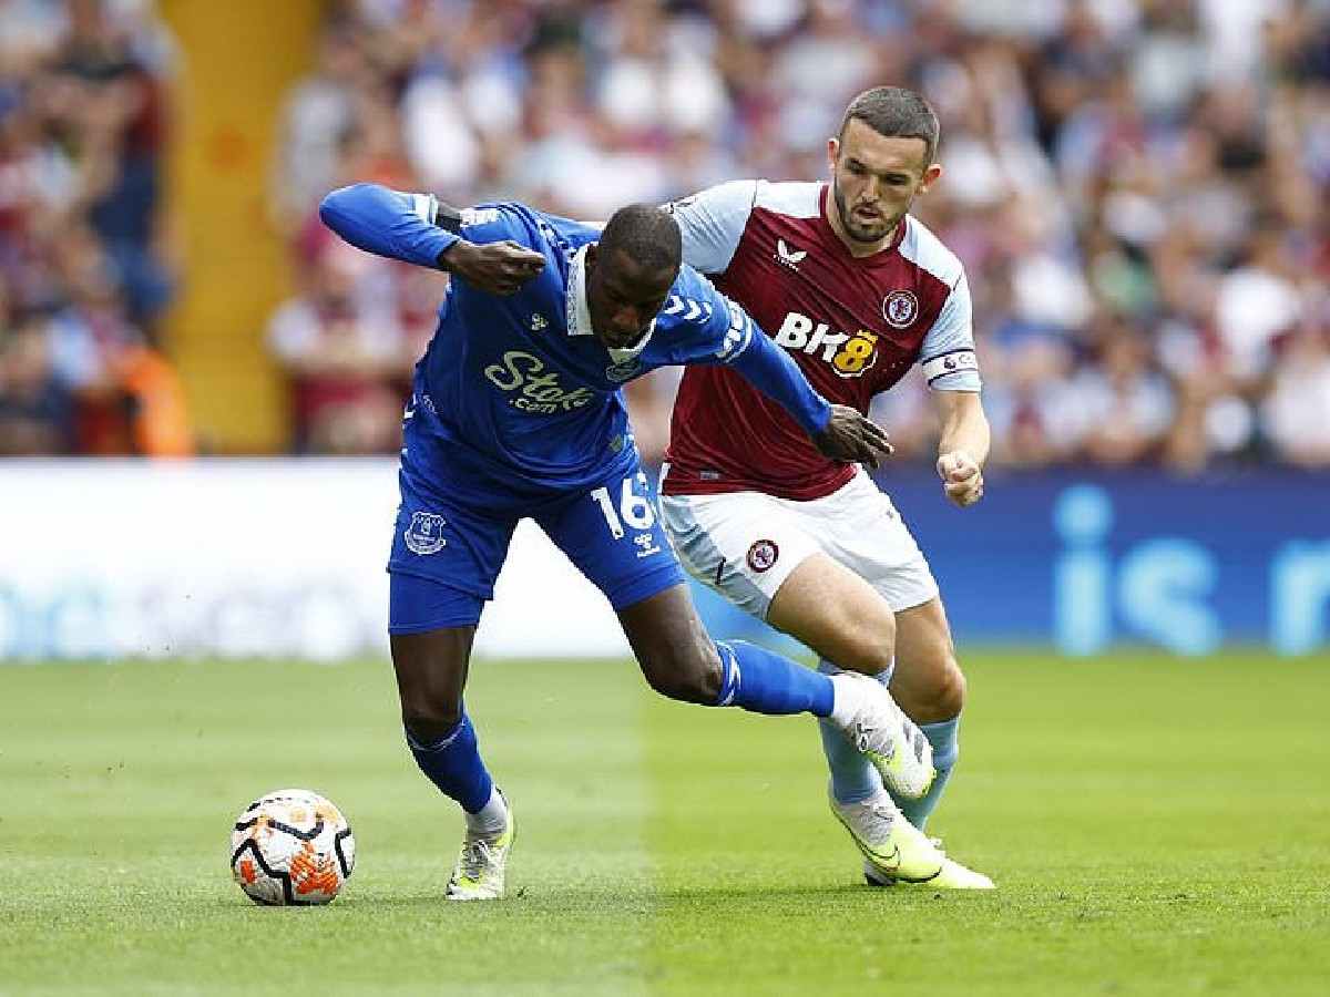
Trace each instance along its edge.
<instances>
[{"instance_id":1,"label":"blue shorts with white number 16 and club crest","mask_svg":"<svg viewBox=\"0 0 1330 997\"><path fill-rule=\"evenodd\" d=\"M593 488L528 498L495 491L492 501L477 501L473 484L459 495L418 472L403 457L388 560L390 633L475 626L493 598L512 532L528 517L616 610L684 582L636 453Z\"/></svg>"}]
</instances>

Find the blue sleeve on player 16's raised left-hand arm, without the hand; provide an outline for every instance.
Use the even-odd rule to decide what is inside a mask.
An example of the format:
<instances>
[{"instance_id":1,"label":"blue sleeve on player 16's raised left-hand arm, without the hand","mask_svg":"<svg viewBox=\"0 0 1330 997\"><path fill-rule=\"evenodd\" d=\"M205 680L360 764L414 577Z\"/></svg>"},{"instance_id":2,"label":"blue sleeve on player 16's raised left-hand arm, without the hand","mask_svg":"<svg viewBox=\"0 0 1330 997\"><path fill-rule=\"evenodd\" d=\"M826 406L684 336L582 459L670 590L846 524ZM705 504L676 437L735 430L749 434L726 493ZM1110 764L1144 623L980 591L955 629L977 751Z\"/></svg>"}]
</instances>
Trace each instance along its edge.
<instances>
[{"instance_id":1,"label":"blue sleeve on player 16's raised left-hand arm, without the hand","mask_svg":"<svg viewBox=\"0 0 1330 997\"><path fill-rule=\"evenodd\" d=\"M459 238L435 225L438 213L432 194L403 194L378 183L340 187L319 203L323 223L356 249L432 270Z\"/></svg>"}]
</instances>

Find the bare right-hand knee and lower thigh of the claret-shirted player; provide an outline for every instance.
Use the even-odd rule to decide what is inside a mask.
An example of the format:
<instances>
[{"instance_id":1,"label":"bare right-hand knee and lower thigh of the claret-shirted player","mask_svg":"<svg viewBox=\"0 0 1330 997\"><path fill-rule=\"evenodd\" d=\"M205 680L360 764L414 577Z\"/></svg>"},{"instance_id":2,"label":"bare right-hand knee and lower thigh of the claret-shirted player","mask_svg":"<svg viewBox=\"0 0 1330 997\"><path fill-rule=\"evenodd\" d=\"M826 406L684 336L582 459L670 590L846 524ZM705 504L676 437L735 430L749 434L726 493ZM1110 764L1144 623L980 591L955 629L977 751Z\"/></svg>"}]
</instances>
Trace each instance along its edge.
<instances>
[{"instance_id":1,"label":"bare right-hand knee and lower thigh of the claret-shirted player","mask_svg":"<svg viewBox=\"0 0 1330 997\"><path fill-rule=\"evenodd\" d=\"M948 720L964 706L966 677L940 598L896 613L891 694L916 723Z\"/></svg>"}]
</instances>

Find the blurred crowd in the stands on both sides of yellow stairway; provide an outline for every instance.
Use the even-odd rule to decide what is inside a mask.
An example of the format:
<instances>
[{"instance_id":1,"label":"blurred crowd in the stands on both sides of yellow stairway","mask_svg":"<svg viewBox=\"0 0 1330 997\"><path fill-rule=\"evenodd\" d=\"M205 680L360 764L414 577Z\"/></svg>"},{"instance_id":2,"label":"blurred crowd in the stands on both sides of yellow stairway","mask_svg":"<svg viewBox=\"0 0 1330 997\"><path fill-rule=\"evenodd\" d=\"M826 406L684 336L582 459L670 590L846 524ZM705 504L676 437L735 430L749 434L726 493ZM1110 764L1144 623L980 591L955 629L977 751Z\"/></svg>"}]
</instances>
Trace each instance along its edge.
<instances>
[{"instance_id":1,"label":"blurred crowd in the stands on both sides of yellow stairway","mask_svg":"<svg viewBox=\"0 0 1330 997\"><path fill-rule=\"evenodd\" d=\"M70 397L106 383L133 407L114 358L160 359L173 52L148 9L70 3L29 51L5 29L0 437L68 433ZM446 287L334 239L329 189L604 218L821 179L878 84L942 120L946 174L915 213L970 274L995 461L1330 465L1330 0L330 1L270 178L298 275L267 330L293 448L395 451ZM629 387L648 459L674 384ZM900 459L926 460L918 378L879 403Z\"/></svg>"}]
</instances>

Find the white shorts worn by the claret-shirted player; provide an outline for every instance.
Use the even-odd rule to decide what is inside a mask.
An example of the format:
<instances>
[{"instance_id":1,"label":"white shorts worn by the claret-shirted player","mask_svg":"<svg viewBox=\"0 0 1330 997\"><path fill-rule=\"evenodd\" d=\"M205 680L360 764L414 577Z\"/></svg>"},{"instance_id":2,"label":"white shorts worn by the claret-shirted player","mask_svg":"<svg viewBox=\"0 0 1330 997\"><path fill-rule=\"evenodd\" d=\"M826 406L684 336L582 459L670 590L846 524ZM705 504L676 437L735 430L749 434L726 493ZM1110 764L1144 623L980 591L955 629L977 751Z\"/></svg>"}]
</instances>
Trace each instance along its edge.
<instances>
[{"instance_id":1,"label":"white shorts worn by the claret-shirted player","mask_svg":"<svg viewBox=\"0 0 1330 997\"><path fill-rule=\"evenodd\" d=\"M892 611L938 596L900 513L863 469L810 501L762 492L660 498L665 532L689 574L759 619L790 573L819 552L867 581Z\"/></svg>"}]
</instances>

